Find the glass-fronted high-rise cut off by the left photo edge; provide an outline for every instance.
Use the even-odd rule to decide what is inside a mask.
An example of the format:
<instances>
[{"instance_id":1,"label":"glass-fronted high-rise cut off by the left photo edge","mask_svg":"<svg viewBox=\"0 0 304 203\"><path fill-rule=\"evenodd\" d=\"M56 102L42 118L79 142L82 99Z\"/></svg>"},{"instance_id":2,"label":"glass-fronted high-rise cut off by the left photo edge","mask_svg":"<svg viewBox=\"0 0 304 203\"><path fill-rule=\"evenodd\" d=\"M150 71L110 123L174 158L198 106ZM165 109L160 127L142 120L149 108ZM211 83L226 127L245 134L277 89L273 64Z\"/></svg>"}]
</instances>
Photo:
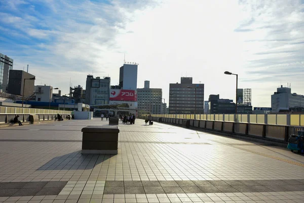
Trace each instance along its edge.
<instances>
[{"instance_id":1,"label":"glass-fronted high-rise cut off by the left photo edge","mask_svg":"<svg viewBox=\"0 0 304 203\"><path fill-rule=\"evenodd\" d=\"M9 84L9 71L13 70L13 59L0 53L0 91L6 92Z\"/></svg>"}]
</instances>

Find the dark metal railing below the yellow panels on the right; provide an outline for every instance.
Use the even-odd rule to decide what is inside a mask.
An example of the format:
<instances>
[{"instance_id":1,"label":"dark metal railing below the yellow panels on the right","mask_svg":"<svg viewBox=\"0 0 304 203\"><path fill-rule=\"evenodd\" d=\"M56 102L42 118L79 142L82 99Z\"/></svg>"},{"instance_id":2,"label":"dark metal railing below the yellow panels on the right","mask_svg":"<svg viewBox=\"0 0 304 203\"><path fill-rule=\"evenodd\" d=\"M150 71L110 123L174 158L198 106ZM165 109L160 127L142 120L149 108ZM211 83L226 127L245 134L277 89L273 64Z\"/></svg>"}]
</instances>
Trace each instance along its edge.
<instances>
[{"instance_id":1,"label":"dark metal railing below the yellow panels on the right","mask_svg":"<svg viewBox=\"0 0 304 203\"><path fill-rule=\"evenodd\" d=\"M144 117L141 117L144 118ZM273 141L288 141L289 134L304 130L304 126L277 125L264 123L245 123L217 120L195 120L187 118L153 117L153 121L184 127L195 127L218 132L233 133Z\"/></svg>"}]
</instances>

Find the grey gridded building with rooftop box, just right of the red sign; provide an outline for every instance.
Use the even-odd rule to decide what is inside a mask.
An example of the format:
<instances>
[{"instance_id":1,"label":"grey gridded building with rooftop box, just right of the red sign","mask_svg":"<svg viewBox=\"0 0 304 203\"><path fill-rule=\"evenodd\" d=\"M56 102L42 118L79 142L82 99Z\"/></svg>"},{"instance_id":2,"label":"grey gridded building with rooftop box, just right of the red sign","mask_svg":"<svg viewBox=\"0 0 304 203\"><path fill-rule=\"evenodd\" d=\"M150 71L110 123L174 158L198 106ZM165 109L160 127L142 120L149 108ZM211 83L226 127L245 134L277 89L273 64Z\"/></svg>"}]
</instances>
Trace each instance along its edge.
<instances>
[{"instance_id":1,"label":"grey gridded building with rooftop box, just right of the red sign","mask_svg":"<svg viewBox=\"0 0 304 203\"><path fill-rule=\"evenodd\" d=\"M149 81L148 81L149 82ZM148 85L147 85L148 84ZM149 111L153 114L162 113L162 89L149 88L149 83L144 82L144 88L137 89L137 103L139 110Z\"/></svg>"}]
</instances>

